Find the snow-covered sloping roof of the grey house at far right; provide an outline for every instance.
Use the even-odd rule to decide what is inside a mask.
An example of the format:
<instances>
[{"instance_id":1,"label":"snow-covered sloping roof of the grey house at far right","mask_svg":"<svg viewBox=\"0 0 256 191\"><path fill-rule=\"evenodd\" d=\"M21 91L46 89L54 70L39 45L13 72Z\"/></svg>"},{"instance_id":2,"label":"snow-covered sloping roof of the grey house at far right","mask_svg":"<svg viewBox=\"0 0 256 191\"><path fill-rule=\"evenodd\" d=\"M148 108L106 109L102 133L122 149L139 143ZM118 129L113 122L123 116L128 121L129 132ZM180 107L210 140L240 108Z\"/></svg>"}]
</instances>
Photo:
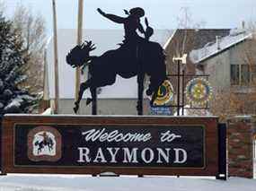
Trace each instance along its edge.
<instances>
[{"instance_id":1,"label":"snow-covered sloping roof of the grey house at far right","mask_svg":"<svg viewBox=\"0 0 256 191\"><path fill-rule=\"evenodd\" d=\"M220 38L215 42L210 42L205 45L204 48L194 49L190 52L190 60L194 64L198 64L210 56L223 52L227 48L231 48L244 39L251 39L252 33L248 33L245 30L230 30L230 34L224 38Z\"/></svg>"}]
</instances>

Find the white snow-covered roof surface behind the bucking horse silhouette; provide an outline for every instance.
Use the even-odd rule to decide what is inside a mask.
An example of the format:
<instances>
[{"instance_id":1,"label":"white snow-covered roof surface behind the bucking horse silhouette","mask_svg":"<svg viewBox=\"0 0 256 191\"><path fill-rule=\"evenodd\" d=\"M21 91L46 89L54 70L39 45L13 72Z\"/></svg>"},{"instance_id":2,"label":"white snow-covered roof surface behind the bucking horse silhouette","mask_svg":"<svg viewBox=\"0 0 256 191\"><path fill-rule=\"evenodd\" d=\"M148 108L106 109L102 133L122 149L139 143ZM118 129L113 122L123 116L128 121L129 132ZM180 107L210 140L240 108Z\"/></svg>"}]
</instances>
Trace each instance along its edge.
<instances>
[{"instance_id":1,"label":"white snow-covered roof surface behind the bucking horse silhouette","mask_svg":"<svg viewBox=\"0 0 256 191\"><path fill-rule=\"evenodd\" d=\"M76 30L63 29L57 30L57 47L58 47L58 71L59 71L59 98L73 99L75 97L75 69L66 64L66 54L76 45ZM170 30L154 30L152 41L159 42L162 46L166 43L170 34ZM110 49L119 48L122 42L123 30L84 30L83 39L92 40L96 46L91 55L100 56ZM48 65L48 83L49 99L55 97L54 89L54 49L53 39L49 40L46 50ZM82 76L84 81L85 76ZM85 91L85 97L89 96L89 92ZM47 96L48 97L48 96ZM123 79L119 75L115 84L102 88L98 98L104 99L134 99L137 98L137 77Z\"/></svg>"}]
</instances>

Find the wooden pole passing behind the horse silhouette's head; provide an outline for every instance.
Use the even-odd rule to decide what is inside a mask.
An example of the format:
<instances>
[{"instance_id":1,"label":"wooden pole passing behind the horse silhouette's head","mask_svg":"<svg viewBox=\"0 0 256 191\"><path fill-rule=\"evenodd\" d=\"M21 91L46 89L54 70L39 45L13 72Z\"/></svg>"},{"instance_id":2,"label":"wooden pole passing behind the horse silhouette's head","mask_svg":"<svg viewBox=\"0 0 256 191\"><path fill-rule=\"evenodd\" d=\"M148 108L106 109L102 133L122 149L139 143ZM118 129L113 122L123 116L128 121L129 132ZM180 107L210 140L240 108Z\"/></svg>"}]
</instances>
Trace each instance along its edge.
<instances>
[{"instance_id":1,"label":"wooden pole passing behind the horse silhouette's head","mask_svg":"<svg viewBox=\"0 0 256 191\"><path fill-rule=\"evenodd\" d=\"M83 14L84 14L84 0L78 0L78 18L77 18L77 44L82 44L82 38L83 38ZM78 100L78 92L80 88L80 82L81 82L81 70L79 67L76 67L75 70L75 100ZM77 110L77 113L79 114L79 109Z\"/></svg>"}]
</instances>

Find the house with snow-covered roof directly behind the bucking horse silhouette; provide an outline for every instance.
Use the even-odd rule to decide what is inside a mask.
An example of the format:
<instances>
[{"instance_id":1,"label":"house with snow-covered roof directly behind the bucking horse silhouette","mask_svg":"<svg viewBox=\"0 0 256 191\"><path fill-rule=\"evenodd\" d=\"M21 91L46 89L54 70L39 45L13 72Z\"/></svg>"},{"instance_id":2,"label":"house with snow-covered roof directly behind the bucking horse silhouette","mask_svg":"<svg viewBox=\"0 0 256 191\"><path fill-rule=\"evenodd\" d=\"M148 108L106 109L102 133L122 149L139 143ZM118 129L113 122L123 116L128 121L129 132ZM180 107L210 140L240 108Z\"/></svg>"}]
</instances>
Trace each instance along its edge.
<instances>
[{"instance_id":1,"label":"house with snow-covered roof directly behind the bucking horse silhouette","mask_svg":"<svg viewBox=\"0 0 256 191\"><path fill-rule=\"evenodd\" d=\"M162 46L170 38L172 30L154 30L151 38ZM92 55L100 56L107 50L119 48L123 40L122 30L84 30L83 37L92 40L96 46ZM72 114L75 102L75 69L66 64L66 54L76 45L76 30L57 30L58 47L58 76L59 76L59 114ZM52 107L55 99L54 84L54 51L53 39L49 39L45 51L44 97L43 100ZM121 65L121 63L120 63ZM82 81L86 79L82 76ZM89 91L85 91L84 98L90 97ZM149 114L149 100L145 97L144 110ZM137 77L123 79L119 75L111 86L98 90L97 113L99 115L137 115ZM81 101L80 114L91 114L91 107L85 106L85 100Z\"/></svg>"}]
</instances>

